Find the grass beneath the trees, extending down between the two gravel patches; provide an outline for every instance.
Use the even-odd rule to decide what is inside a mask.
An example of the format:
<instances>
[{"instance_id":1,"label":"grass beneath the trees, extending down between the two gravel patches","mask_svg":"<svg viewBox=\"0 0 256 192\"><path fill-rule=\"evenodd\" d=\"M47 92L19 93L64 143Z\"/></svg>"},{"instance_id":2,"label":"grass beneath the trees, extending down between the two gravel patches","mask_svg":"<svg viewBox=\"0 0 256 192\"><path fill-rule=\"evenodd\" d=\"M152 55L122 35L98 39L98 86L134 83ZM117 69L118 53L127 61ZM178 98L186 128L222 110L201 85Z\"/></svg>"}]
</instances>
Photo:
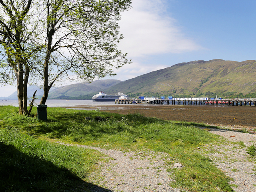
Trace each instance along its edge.
<instances>
[{"instance_id":1,"label":"grass beneath the trees, extending down between the two gravel patches","mask_svg":"<svg viewBox=\"0 0 256 192\"><path fill-rule=\"evenodd\" d=\"M35 112L34 109L32 113ZM218 136L197 128L205 127L203 124L164 121L140 114L120 115L62 108L47 108L47 113L48 121L38 121L35 117L18 115L16 107L1 107L0 126L5 129L8 125L8 129L28 133L32 136L31 139L56 139L124 151L150 149L166 152L171 159L166 161L170 166L169 171L174 172L176 179L172 186L189 191L218 191L218 188L222 191L232 191L228 184L230 178L213 166L210 158L197 152L198 146L219 140ZM104 120L96 121L97 116ZM86 120L85 117L92 119ZM37 151L39 146L34 148ZM78 157L74 157L74 160L76 159ZM174 162L180 162L185 167L173 169ZM58 164L57 161L56 166ZM79 171L72 173L84 178Z\"/></svg>"}]
</instances>

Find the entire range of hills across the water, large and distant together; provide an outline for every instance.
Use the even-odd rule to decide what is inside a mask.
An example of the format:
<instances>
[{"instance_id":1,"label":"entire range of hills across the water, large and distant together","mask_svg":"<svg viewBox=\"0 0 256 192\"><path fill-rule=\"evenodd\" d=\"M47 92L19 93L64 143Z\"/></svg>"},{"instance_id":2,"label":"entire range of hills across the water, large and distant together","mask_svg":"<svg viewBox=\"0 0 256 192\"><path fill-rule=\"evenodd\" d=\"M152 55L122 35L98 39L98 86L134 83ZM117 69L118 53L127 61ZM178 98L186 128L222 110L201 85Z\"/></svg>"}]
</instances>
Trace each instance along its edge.
<instances>
[{"instance_id":1,"label":"entire range of hills across the water, large and distant together","mask_svg":"<svg viewBox=\"0 0 256 192\"><path fill-rule=\"evenodd\" d=\"M126 81L97 80L54 89L49 99L91 99L99 91L134 96L256 97L256 61L190 61L152 71ZM34 93L34 89L32 94ZM236 95L240 93L240 95ZM17 93L14 94L17 98ZM37 94L38 95L38 94ZM31 95L32 96L32 95ZM31 97L30 96L30 97ZM186 96L184 96L186 97Z\"/></svg>"}]
</instances>

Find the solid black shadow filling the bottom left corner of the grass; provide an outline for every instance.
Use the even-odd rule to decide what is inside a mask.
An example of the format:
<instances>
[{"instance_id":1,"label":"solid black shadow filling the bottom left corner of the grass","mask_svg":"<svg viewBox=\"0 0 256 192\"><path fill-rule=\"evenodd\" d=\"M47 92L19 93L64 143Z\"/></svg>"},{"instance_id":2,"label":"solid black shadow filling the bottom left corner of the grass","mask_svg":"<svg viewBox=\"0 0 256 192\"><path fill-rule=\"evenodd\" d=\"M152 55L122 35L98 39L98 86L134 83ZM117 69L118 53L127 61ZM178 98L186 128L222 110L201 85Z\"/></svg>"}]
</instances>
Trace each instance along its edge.
<instances>
[{"instance_id":1,"label":"solid black shadow filling the bottom left corner of the grass","mask_svg":"<svg viewBox=\"0 0 256 192\"><path fill-rule=\"evenodd\" d=\"M0 189L37 192L112 192L83 181L65 167L0 142Z\"/></svg>"}]
</instances>

